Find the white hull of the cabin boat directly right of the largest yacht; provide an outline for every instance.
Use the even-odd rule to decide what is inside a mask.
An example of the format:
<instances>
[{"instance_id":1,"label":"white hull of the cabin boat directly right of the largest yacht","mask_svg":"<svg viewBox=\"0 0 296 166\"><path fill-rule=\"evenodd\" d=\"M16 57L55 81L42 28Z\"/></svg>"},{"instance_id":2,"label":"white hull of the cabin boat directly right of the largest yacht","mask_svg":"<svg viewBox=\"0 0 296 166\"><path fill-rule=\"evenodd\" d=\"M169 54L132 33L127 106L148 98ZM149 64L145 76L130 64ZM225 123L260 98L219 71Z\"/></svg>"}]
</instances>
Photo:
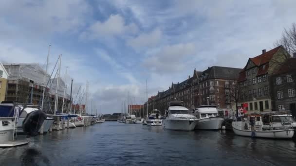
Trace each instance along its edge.
<instances>
[{"instance_id":1,"label":"white hull of the cabin boat directly right of the largest yacht","mask_svg":"<svg viewBox=\"0 0 296 166\"><path fill-rule=\"evenodd\" d=\"M200 119L195 128L200 130L220 130L223 121L222 117Z\"/></svg>"}]
</instances>

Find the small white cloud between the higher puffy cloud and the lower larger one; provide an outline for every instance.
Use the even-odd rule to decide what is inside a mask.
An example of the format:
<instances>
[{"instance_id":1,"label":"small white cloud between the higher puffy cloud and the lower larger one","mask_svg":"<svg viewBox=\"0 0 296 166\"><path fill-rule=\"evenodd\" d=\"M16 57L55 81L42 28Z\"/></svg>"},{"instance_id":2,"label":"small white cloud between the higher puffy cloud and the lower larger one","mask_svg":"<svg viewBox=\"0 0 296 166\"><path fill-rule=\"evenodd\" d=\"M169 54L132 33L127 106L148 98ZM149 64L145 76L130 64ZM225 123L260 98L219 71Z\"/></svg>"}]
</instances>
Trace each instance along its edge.
<instances>
[{"instance_id":1,"label":"small white cloud between the higher puffy cloud and the lower larger one","mask_svg":"<svg viewBox=\"0 0 296 166\"><path fill-rule=\"evenodd\" d=\"M161 40L161 31L155 29L149 33L142 33L135 38L129 39L127 45L131 46L133 49L138 50L142 47L155 46Z\"/></svg>"}]
</instances>

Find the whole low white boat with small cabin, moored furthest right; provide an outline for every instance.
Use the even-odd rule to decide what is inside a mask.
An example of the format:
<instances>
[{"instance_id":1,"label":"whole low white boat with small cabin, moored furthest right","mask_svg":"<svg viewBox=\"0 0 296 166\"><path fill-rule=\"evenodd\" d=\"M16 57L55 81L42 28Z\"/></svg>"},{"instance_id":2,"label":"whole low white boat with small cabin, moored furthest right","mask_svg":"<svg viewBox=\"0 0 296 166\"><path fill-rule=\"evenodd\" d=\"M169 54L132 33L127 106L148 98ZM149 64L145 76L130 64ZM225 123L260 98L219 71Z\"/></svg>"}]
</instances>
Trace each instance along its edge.
<instances>
[{"instance_id":1,"label":"whole low white boat with small cabin, moored furthest right","mask_svg":"<svg viewBox=\"0 0 296 166\"><path fill-rule=\"evenodd\" d=\"M243 118L238 117L237 121L232 122L233 132L240 136L291 139L295 133L293 129L265 130L262 127L263 123L260 115L249 115Z\"/></svg>"}]
</instances>

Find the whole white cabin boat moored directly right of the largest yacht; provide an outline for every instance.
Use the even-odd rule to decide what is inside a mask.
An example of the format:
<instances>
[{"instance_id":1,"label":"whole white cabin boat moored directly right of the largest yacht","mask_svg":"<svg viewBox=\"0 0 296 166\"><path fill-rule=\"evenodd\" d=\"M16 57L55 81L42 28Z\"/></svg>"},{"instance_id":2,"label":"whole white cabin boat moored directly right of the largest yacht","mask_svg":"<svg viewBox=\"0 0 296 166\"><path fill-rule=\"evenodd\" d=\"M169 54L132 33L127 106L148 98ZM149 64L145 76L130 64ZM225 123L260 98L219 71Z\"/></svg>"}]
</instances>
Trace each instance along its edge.
<instances>
[{"instance_id":1,"label":"whole white cabin boat moored directly right of the largest yacht","mask_svg":"<svg viewBox=\"0 0 296 166\"><path fill-rule=\"evenodd\" d=\"M224 121L222 117L218 117L218 110L214 105L202 105L195 111L198 119L196 129L201 130L219 130Z\"/></svg>"}]
</instances>

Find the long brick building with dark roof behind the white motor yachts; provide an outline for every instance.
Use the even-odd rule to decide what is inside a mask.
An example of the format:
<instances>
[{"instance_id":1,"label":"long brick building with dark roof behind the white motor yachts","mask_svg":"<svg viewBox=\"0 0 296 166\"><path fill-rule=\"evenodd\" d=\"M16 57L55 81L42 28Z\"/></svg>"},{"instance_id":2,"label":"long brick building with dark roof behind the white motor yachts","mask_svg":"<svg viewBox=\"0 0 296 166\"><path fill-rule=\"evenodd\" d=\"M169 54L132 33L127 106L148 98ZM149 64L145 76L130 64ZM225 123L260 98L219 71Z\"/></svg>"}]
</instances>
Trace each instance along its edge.
<instances>
[{"instance_id":1,"label":"long brick building with dark roof behind the white motor yachts","mask_svg":"<svg viewBox=\"0 0 296 166\"><path fill-rule=\"evenodd\" d=\"M241 68L212 66L208 69L196 71L194 69L193 76L181 82L171 83L166 91L158 92L157 95L148 99L148 114L154 109L165 114L168 102L171 100L182 100L189 110L194 110L199 105L209 104L217 105L220 110L231 111L231 100L226 101L227 89L229 84L236 83ZM217 84L218 82L218 84ZM226 90L225 90L226 89ZM147 110L147 102L144 104L145 115ZM223 111L224 111L223 110Z\"/></svg>"}]
</instances>

